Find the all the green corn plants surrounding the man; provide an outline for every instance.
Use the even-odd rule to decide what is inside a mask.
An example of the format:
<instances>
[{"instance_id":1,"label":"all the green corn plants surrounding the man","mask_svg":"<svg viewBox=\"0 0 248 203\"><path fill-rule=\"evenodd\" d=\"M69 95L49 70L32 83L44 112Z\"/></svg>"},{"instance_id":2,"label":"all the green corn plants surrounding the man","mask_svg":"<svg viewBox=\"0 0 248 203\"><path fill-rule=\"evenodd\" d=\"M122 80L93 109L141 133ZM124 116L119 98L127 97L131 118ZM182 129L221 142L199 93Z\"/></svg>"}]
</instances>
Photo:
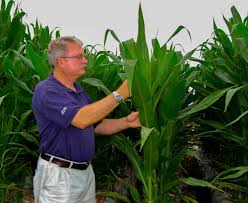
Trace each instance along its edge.
<instances>
[{"instance_id":1,"label":"all the green corn plants surrounding the man","mask_svg":"<svg viewBox=\"0 0 248 203\"><path fill-rule=\"evenodd\" d=\"M93 165L99 196L137 203L197 202L185 188L204 187L247 202L248 17L243 20L235 7L231 13L224 18L228 34L214 23L213 38L187 54L171 43L183 26L163 45L152 39L148 50L141 6L136 40L121 41L113 30L106 31L104 43L111 34L119 54L85 47L87 73L79 82L98 100L128 79L132 98L111 117L139 111L142 123L141 130L126 130L111 141L97 138ZM1 1L0 202L21 202L25 179L34 174L39 138L32 92L51 71L47 45L60 35L38 21L26 25L24 15L14 1ZM196 50L201 58L193 56ZM106 157L108 163L102 161ZM206 157L215 172L204 174L200 168L202 177L190 177L187 165ZM128 192L118 193L117 183Z\"/></svg>"}]
</instances>

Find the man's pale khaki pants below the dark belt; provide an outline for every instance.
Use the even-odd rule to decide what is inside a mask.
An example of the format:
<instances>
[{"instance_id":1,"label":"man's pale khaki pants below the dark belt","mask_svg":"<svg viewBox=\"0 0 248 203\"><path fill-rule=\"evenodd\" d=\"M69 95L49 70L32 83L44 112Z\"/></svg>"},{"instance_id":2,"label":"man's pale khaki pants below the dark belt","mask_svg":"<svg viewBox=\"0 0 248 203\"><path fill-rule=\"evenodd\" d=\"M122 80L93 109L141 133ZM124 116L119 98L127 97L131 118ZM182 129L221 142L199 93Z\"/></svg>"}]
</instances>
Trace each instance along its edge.
<instances>
[{"instance_id":1,"label":"man's pale khaki pants below the dark belt","mask_svg":"<svg viewBox=\"0 0 248 203\"><path fill-rule=\"evenodd\" d=\"M95 175L86 170L62 168L38 160L33 179L35 203L95 203Z\"/></svg>"}]
</instances>

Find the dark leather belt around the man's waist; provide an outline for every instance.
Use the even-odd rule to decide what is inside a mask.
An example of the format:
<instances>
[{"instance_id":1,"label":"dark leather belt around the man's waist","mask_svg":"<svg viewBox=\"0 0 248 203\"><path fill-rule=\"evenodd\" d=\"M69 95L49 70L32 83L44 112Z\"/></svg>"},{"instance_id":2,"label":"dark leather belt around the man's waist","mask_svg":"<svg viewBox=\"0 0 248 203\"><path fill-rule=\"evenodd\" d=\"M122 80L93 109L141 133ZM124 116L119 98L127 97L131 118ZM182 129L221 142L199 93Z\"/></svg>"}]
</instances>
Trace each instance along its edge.
<instances>
[{"instance_id":1,"label":"dark leather belt around the man's waist","mask_svg":"<svg viewBox=\"0 0 248 203\"><path fill-rule=\"evenodd\" d=\"M53 156L50 156L44 153L41 154L41 158L51 163L57 164L63 168L74 168L74 169L79 169L79 170L85 170L90 165L90 162L74 163L74 162L62 160L57 157L53 157Z\"/></svg>"}]
</instances>

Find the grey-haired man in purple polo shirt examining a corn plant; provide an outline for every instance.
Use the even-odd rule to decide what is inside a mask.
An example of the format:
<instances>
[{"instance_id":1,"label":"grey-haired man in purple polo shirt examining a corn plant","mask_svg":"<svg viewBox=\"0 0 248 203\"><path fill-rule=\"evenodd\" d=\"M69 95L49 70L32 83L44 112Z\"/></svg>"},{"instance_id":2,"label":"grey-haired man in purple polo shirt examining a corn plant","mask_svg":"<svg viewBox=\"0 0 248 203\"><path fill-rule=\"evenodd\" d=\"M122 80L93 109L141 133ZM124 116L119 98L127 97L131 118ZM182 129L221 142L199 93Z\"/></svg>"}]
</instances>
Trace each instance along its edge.
<instances>
[{"instance_id":1,"label":"grey-haired man in purple polo shirt examining a corn plant","mask_svg":"<svg viewBox=\"0 0 248 203\"><path fill-rule=\"evenodd\" d=\"M94 132L110 135L140 127L138 113L105 119L130 95L127 81L112 94L91 103L76 80L87 60L75 37L50 42L48 62L53 73L33 94L33 111L40 134L41 155L34 176L36 203L95 203Z\"/></svg>"}]
</instances>

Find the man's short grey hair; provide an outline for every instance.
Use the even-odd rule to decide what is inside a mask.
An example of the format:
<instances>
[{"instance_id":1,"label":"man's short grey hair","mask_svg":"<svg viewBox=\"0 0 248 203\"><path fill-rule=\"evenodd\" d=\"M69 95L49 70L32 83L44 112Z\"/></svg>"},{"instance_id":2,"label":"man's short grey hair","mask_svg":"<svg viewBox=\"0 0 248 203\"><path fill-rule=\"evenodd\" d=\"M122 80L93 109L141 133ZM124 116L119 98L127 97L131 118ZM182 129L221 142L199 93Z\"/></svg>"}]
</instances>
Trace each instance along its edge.
<instances>
[{"instance_id":1,"label":"man's short grey hair","mask_svg":"<svg viewBox=\"0 0 248 203\"><path fill-rule=\"evenodd\" d=\"M83 46L81 40L74 36L64 36L52 40L48 45L47 51L49 65L55 67L57 57L65 55L68 51L68 45L73 43Z\"/></svg>"}]
</instances>

